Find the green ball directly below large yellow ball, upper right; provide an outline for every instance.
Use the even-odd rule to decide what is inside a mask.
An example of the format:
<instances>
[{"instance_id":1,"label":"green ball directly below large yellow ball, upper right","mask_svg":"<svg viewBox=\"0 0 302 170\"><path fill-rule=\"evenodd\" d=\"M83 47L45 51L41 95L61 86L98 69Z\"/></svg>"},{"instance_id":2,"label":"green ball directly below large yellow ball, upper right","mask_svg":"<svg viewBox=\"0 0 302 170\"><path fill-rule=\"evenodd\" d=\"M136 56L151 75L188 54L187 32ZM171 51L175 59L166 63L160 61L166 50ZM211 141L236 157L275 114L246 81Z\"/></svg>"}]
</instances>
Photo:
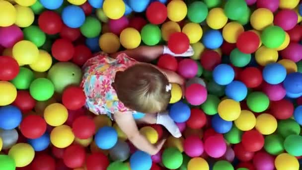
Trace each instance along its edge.
<instances>
[{"instance_id":1,"label":"green ball directly below large yellow ball, upper right","mask_svg":"<svg viewBox=\"0 0 302 170\"><path fill-rule=\"evenodd\" d=\"M279 26L268 26L261 34L261 41L267 48L277 48L285 40L285 31Z\"/></svg>"}]
</instances>

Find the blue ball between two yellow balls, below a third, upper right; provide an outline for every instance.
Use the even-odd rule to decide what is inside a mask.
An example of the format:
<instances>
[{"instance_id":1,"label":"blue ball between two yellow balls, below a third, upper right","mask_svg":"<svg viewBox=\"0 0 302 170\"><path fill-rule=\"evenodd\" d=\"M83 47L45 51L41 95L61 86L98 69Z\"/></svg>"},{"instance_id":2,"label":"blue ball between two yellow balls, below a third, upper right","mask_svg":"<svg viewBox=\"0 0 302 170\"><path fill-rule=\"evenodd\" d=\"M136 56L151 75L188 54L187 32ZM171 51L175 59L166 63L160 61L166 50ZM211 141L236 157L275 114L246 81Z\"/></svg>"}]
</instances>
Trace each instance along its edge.
<instances>
[{"instance_id":1,"label":"blue ball between two yellow balls, below a third, upper right","mask_svg":"<svg viewBox=\"0 0 302 170\"><path fill-rule=\"evenodd\" d=\"M206 48L217 49L224 42L223 35L221 31L210 29L206 31L202 37L202 43Z\"/></svg>"}]
</instances>

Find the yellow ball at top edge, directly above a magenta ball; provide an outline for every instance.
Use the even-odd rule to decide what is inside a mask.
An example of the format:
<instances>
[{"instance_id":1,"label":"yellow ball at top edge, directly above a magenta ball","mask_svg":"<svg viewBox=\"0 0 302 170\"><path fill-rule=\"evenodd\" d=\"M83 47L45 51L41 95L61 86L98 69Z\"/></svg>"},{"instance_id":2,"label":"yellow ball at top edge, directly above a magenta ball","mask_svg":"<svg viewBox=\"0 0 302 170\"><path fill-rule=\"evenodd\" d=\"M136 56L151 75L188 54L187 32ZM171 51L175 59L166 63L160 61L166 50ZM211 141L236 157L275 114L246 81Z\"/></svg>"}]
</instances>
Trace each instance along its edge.
<instances>
[{"instance_id":1,"label":"yellow ball at top edge, directly above a magenta ball","mask_svg":"<svg viewBox=\"0 0 302 170\"><path fill-rule=\"evenodd\" d=\"M119 19L124 15L126 5L123 0L104 0L103 11L108 18Z\"/></svg>"}]
</instances>

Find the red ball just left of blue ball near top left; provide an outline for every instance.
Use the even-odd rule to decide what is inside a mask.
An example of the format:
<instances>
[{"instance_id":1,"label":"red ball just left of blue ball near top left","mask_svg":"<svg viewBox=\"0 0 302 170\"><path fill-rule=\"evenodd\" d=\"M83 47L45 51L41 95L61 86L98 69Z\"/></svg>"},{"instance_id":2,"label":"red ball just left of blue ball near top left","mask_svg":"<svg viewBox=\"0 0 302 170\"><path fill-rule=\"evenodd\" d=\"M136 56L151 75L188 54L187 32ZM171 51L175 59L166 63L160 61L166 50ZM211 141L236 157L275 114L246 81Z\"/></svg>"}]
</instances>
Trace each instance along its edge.
<instances>
[{"instance_id":1,"label":"red ball just left of blue ball near top left","mask_svg":"<svg viewBox=\"0 0 302 170\"><path fill-rule=\"evenodd\" d=\"M39 15L38 25L43 32L53 35L62 30L63 21L57 12L46 10Z\"/></svg>"}]
</instances>

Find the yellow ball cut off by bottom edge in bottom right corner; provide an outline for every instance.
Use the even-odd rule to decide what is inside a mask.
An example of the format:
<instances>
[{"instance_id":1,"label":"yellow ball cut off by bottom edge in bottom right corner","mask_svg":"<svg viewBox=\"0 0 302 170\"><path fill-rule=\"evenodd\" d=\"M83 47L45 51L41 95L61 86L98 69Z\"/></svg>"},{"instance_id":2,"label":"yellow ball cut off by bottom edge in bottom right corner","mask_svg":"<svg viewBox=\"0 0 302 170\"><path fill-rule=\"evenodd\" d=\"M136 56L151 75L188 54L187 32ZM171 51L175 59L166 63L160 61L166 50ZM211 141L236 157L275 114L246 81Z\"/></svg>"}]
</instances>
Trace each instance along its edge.
<instances>
[{"instance_id":1,"label":"yellow ball cut off by bottom edge in bottom right corner","mask_svg":"<svg viewBox=\"0 0 302 170\"><path fill-rule=\"evenodd\" d=\"M300 164L296 157L283 153L275 159L275 167L277 170L299 170Z\"/></svg>"}]
</instances>

